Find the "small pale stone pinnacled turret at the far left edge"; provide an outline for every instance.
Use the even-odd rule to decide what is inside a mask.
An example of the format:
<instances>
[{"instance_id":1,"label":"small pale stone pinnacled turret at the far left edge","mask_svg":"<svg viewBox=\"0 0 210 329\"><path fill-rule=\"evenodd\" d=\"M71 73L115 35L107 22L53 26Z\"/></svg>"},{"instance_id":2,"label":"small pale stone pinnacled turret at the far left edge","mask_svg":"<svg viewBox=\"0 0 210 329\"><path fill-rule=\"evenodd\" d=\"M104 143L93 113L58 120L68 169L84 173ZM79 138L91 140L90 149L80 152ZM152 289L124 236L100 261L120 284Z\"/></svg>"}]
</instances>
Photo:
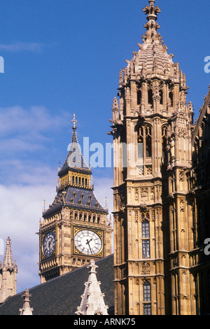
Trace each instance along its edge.
<instances>
[{"instance_id":1,"label":"small pale stone pinnacled turret at the far left edge","mask_svg":"<svg viewBox=\"0 0 210 329\"><path fill-rule=\"evenodd\" d=\"M18 267L13 262L10 237L6 240L6 251L3 258L3 265L0 264L0 303L9 296L16 294L16 283Z\"/></svg>"}]
</instances>

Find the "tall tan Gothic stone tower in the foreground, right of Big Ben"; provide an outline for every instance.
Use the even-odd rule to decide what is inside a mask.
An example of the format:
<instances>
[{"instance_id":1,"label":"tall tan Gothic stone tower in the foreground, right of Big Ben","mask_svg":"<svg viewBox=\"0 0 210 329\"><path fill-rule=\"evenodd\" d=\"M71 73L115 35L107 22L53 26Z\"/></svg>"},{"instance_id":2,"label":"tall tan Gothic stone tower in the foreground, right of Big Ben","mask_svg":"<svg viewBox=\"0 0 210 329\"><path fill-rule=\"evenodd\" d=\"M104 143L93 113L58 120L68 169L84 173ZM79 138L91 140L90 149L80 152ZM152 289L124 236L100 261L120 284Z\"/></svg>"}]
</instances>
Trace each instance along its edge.
<instances>
[{"instance_id":1,"label":"tall tan Gothic stone tower in the foreground, right of Big Ben","mask_svg":"<svg viewBox=\"0 0 210 329\"><path fill-rule=\"evenodd\" d=\"M113 101L116 314L192 314L189 251L193 106L186 76L158 33L150 0L143 44L120 71ZM191 288L190 288L191 287Z\"/></svg>"}]
</instances>

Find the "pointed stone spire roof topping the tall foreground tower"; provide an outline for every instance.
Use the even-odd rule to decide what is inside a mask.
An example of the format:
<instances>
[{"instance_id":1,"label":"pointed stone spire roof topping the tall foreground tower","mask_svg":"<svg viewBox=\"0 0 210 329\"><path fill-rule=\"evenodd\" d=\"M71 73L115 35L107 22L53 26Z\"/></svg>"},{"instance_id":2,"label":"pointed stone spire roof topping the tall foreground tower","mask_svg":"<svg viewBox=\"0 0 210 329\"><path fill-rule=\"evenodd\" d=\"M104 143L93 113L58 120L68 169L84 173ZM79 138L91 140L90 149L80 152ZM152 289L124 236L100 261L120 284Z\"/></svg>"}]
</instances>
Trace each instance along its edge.
<instances>
[{"instance_id":1,"label":"pointed stone spire roof topping the tall foreground tower","mask_svg":"<svg viewBox=\"0 0 210 329\"><path fill-rule=\"evenodd\" d=\"M127 67L120 71L120 87L133 78L161 78L172 80L173 83L179 83L180 70L179 64L172 61L174 55L167 53L167 46L163 45L162 36L158 33L160 25L158 24L158 13L161 13L159 6L155 6L155 1L150 0L149 6L143 8L147 15L145 34L142 36L143 43L139 43L139 52L133 52L132 60L126 60ZM124 74L123 74L124 72Z\"/></svg>"}]
</instances>

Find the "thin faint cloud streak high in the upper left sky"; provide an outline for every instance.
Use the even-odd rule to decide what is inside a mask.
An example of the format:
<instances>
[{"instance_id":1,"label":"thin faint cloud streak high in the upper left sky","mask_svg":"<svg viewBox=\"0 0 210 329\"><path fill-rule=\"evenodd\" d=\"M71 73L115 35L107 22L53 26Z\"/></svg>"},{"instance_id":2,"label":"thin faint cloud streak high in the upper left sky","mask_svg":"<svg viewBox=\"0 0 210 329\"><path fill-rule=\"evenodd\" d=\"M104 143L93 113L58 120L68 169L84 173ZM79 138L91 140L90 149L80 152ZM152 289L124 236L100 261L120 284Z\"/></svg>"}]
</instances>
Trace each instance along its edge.
<instances>
[{"instance_id":1,"label":"thin faint cloud streak high in the upper left sky","mask_svg":"<svg viewBox=\"0 0 210 329\"><path fill-rule=\"evenodd\" d=\"M42 52L43 48L48 47L49 45L45 45L43 43L37 42L21 42L16 41L13 43L2 44L0 43L0 50L4 50L7 52Z\"/></svg>"}]
</instances>

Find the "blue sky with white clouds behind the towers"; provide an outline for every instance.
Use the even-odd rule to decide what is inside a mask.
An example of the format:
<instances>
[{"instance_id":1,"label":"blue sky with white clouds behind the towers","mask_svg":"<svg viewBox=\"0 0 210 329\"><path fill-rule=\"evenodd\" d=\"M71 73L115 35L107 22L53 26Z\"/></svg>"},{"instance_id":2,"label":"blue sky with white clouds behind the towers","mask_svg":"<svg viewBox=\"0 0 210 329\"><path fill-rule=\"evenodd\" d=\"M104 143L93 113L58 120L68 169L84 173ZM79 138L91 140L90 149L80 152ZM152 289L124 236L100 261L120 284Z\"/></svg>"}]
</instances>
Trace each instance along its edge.
<instances>
[{"instance_id":1,"label":"blue sky with white clouds behind the towers","mask_svg":"<svg viewBox=\"0 0 210 329\"><path fill-rule=\"evenodd\" d=\"M78 139L111 143L120 69L142 42L147 0L2 0L0 4L0 232L12 240L18 291L40 282L38 221L55 197L76 113ZM160 34L186 73L195 118L208 92L209 0L157 0ZM111 168L95 168L95 193L112 209Z\"/></svg>"}]
</instances>

